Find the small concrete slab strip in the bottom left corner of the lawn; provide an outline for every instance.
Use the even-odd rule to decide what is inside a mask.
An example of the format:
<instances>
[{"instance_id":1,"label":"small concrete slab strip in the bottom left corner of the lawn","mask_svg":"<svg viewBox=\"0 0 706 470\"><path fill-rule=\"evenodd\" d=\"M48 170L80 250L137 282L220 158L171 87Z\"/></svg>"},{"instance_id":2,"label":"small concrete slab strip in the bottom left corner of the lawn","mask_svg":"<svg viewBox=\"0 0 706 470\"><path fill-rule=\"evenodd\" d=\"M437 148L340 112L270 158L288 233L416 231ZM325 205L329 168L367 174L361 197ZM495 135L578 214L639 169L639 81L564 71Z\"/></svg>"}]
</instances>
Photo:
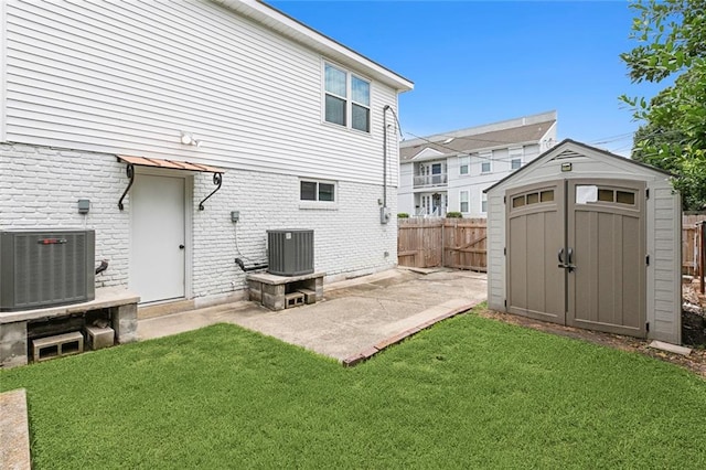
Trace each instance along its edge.
<instances>
[{"instance_id":1,"label":"small concrete slab strip in the bottom left corner of the lawn","mask_svg":"<svg viewBox=\"0 0 706 470\"><path fill-rule=\"evenodd\" d=\"M0 394L0 469L30 470L26 391Z\"/></svg>"}]
</instances>

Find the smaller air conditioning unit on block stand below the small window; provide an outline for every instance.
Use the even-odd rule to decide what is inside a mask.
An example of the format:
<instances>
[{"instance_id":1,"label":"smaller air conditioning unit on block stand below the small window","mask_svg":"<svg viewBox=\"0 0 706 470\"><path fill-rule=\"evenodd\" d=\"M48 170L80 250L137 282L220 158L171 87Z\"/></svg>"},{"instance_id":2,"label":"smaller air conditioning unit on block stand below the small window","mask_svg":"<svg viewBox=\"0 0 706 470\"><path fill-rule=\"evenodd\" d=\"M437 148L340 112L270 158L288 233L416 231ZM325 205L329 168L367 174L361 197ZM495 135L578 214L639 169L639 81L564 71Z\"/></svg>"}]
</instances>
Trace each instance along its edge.
<instances>
[{"instance_id":1,"label":"smaller air conditioning unit on block stand below the small window","mask_svg":"<svg viewBox=\"0 0 706 470\"><path fill-rule=\"evenodd\" d=\"M313 273L313 231L267 231L268 273L301 276Z\"/></svg>"}]
</instances>

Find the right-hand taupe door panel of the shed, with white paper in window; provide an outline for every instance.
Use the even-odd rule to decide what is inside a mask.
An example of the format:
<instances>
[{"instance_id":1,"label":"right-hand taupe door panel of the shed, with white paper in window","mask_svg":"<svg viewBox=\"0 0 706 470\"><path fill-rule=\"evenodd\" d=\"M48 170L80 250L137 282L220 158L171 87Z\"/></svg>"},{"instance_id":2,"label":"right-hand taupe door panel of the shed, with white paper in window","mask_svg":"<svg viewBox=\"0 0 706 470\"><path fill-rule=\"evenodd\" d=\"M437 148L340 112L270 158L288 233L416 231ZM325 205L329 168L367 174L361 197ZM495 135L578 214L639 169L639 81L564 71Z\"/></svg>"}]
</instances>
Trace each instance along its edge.
<instances>
[{"instance_id":1,"label":"right-hand taupe door panel of the shed, with white paper in window","mask_svg":"<svg viewBox=\"0 0 706 470\"><path fill-rule=\"evenodd\" d=\"M571 181L568 200L567 324L644 335L644 184Z\"/></svg>"}]
</instances>

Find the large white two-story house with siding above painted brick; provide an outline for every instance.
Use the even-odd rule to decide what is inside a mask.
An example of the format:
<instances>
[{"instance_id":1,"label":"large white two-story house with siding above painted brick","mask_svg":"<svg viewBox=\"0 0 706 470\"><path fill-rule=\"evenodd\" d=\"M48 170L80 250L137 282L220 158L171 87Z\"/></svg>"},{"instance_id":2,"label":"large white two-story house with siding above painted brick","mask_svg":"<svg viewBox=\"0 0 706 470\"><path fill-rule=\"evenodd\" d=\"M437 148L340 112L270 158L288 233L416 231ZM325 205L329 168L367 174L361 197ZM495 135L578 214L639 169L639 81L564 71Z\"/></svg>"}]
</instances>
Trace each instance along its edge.
<instances>
[{"instance_id":1,"label":"large white two-story house with siding above painted brick","mask_svg":"<svg viewBox=\"0 0 706 470\"><path fill-rule=\"evenodd\" d=\"M242 298L234 259L266 261L267 229L313 229L329 280L395 266L383 132L408 79L256 1L8 0L0 19L0 229L95 229L97 287L143 302Z\"/></svg>"}]
</instances>

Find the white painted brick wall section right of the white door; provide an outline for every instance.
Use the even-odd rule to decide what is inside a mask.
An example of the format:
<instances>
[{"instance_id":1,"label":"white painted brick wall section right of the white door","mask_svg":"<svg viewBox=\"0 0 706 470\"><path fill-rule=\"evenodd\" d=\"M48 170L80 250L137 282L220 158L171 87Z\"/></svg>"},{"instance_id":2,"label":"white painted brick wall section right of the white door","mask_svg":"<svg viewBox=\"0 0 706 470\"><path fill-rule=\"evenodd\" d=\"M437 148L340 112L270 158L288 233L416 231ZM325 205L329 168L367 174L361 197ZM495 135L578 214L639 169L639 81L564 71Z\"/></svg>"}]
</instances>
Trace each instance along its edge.
<instances>
[{"instance_id":1,"label":"white painted brick wall section right of the white door","mask_svg":"<svg viewBox=\"0 0 706 470\"><path fill-rule=\"evenodd\" d=\"M199 211L199 201L213 189L211 174L195 177L195 297L243 289L245 275L234 259L245 259L246 266L267 263L268 229L313 229L314 269L325 273L327 281L396 264L397 221L393 217L389 224L379 223L382 185L339 182L335 210L301 209L299 178L232 170L224 174L222 189L204 204L205 211ZM397 201L394 191L387 191L393 215ZM231 222L231 211L240 212L237 226Z\"/></svg>"}]
</instances>

